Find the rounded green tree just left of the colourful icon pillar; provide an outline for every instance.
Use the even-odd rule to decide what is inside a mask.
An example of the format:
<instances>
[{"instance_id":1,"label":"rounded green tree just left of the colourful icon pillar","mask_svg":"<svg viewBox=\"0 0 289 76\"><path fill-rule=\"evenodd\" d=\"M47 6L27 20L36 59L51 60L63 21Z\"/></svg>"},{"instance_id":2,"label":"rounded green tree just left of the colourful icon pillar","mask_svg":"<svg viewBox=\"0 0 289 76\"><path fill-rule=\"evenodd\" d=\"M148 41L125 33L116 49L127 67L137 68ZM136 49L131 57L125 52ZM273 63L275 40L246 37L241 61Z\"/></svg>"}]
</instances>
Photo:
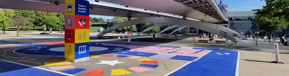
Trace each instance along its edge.
<instances>
[{"instance_id":1,"label":"rounded green tree just left of the colourful icon pillar","mask_svg":"<svg viewBox=\"0 0 289 76\"><path fill-rule=\"evenodd\" d=\"M48 16L47 18L45 18L45 25L47 27L54 27L57 28L59 26L59 18L57 18L57 16Z\"/></svg>"}]
</instances>

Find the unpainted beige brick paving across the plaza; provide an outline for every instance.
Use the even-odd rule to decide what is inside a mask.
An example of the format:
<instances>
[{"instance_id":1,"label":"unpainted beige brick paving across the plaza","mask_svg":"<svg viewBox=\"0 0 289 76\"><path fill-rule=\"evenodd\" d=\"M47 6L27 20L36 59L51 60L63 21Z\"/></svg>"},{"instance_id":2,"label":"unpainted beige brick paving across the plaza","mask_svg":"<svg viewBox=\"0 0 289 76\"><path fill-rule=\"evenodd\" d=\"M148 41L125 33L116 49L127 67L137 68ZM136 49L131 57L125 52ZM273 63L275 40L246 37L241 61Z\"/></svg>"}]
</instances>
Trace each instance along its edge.
<instances>
[{"instance_id":1,"label":"unpainted beige brick paving across the plaza","mask_svg":"<svg viewBox=\"0 0 289 76\"><path fill-rule=\"evenodd\" d=\"M40 37L40 36L39 36ZM170 38L170 37L164 37ZM182 39L182 38L181 38ZM183 38L185 39L185 38ZM91 41L103 41L103 42L118 42L118 43L126 43L127 41L116 40L116 39L106 39L106 40L98 40L92 39ZM147 45L167 45L167 46L179 46L179 47L203 47L203 48L216 48L216 49L228 49L228 50L235 50L240 52L240 61L239 61L239 75L240 76L289 76L289 51L288 50L280 50L280 61L284 62L285 64L274 64L271 61L275 60L274 49L262 49L256 48L251 46L241 46L241 45L228 45L228 44L181 44L181 43L157 43L157 42L137 42L132 41L131 43L134 44L147 44ZM1 44L0 43L0 59L1 60L8 60L11 62L17 62L21 64L27 64L31 66L38 66L41 68L49 69L47 66L44 66L44 62L51 60L51 59L63 59L63 56L31 56L31 55L22 55L13 53L13 50L20 49L29 46L22 46L22 45L13 45L13 44ZM6 53L6 54L4 54ZM120 60L119 62L126 62L132 64L116 64L117 67L106 66L107 64L98 64L99 60ZM178 60L165 60L165 59L156 59L152 58L159 62L159 66L149 73L149 76L162 76L170 71L178 68L179 66L186 64L187 61L178 61ZM27 62L28 61L28 62ZM127 62L129 61L129 62ZM31 63L32 62L32 63ZM80 75L91 71L93 69L104 69L106 76L110 75L111 69L119 69L124 68L127 71L132 72L129 76L140 76L146 75L147 73L137 73L130 69L130 66L137 66L139 65L139 61L131 60L126 58L117 58L116 55L113 58L104 58L100 56L100 58L90 58L89 61L79 62L79 63L72 63L71 65L80 67L80 68L87 68L88 70L82 71L76 75ZM90 66L84 66L90 65ZM59 70L63 71L63 70Z\"/></svg>"}]
</instances>

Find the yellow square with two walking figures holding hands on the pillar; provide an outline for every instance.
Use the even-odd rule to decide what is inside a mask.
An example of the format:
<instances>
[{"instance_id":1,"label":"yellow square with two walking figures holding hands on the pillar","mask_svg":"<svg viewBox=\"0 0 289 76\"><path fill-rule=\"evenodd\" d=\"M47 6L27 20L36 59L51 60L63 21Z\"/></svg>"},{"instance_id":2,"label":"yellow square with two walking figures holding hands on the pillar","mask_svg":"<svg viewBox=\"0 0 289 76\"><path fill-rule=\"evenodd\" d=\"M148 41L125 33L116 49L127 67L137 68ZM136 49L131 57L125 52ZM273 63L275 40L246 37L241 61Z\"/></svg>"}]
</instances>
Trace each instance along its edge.
<instances>
[{"instance_id":1,"label":"yellow square with two walking figures holding hands on the pillar","mask_svg":"<svg viewBox=\"0 0 289 76\"><path fill-rule=\"evenodd\" d=\"M75 29L74 37L74 43L89 42L89 29Z\"/></svg>"}]
</instances>

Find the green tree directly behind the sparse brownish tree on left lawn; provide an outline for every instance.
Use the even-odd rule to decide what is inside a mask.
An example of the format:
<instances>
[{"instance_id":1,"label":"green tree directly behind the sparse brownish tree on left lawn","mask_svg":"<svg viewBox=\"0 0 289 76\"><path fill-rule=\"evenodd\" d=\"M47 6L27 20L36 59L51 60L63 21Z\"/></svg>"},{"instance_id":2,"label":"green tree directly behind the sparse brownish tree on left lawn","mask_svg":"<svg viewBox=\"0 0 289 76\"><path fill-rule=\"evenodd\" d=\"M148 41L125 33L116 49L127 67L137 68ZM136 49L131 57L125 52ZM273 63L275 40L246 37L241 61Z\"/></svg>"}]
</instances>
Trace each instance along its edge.
<instances>
[{"instance_id":1,"label":"green tree directly behind the sparse brownish tree on left lawn","mask_svg":"<svg viewBox=\"0 0 289 76\"><path fill-rule=\"evenodd\" d=\"M18 16L22 16L23 18L25 18L27 20L27 24L21 26L22 27L22 31L23 31L23 27L26 26L28 29L28 27L33 27L34 23L36 23L36 14L33 11L28 11L28 10L15 10L16 15Z\"/></svg>"}]
</instances>

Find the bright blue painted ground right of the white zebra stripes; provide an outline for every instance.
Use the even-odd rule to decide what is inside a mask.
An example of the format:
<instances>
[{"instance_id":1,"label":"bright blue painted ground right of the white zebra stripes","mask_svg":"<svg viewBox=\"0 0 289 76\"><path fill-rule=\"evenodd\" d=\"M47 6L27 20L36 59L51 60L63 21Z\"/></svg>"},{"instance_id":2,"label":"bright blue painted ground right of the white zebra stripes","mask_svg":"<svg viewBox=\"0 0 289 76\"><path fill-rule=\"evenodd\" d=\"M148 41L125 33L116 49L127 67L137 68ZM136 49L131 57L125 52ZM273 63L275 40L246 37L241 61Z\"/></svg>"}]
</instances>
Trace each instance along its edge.
<instances>
[{"instance_id":1,"label":"bright blue painted ground right of the white zebra stripes","mask_svg":"<svg viewBox=\"0 0 289 76\"><path fill-rule=\"evenodd\" d=\"M204 55L197 62L192 62L169 76L235 76L238 60L237 51L205 48L194 49L212 50L212 52ZM227 55L225 53L227 53Z\"/></svg>"}]
</instances>

